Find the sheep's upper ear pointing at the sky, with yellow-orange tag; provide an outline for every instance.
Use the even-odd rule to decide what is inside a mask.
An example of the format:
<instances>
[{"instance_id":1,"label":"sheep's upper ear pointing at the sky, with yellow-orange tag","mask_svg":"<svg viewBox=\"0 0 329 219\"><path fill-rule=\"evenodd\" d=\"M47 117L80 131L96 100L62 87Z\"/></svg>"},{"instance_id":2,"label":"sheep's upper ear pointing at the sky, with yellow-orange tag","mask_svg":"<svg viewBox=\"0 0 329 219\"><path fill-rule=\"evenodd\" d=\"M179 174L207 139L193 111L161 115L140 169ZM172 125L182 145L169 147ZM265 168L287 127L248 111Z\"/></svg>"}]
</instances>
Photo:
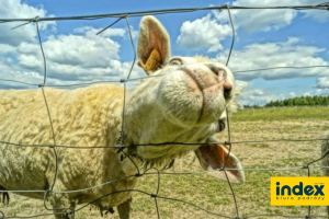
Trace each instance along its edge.
<instances>
[{"instance_id":1,"label":"sheep's upper ear pointing at the sky, with yellow-orange tag","mask_svg":"<svg viewBox=\"0 0 329 219\"><path fill-rule=\"evenodd\" d=\"M138 36L138 66L148 74L168 64L170 38L168 32L155 16L144 16Z\"/></svg>"}]
</instances>

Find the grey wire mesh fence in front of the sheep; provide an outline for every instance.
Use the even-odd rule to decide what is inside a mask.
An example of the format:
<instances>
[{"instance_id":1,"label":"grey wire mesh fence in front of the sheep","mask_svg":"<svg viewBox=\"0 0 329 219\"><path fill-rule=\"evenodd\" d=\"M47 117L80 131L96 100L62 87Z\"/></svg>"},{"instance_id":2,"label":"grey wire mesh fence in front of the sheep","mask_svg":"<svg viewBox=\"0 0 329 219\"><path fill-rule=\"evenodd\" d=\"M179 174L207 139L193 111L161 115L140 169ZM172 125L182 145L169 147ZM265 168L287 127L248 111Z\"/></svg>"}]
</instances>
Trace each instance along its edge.
<instances>
[{"instance_id":1,"label":"grey wire mesh fence in front of the sheep","mask_svg":"<svg viewBox=\"0 0 329 219\"><path fill-rule=\"evenodd\" d=\"M216 216L218 218L231 218L231 219L241 219L241 218L258 218L258 217L272 217L272 218L276 218L276 217L283 217L283 218L328 218L328 216L314 216L310 214L310 206L307 209L306 216L288 216L288 215L273 215L273 214L264 214L264 215L250 215L250 216L240 216L239 214L239 207L238 207L238 203L237 203L237 198L235 195L235 191L231 186L231 183L227 176L227 172L228 170L239 170L239 169L229 169L226 168L226 162L225 164L220 168L220 169L216 169L216 170L212 170L212 171L200 171L200 172L181 172L181 173L169 173L169 172L160 172L159 170L157 170L156 168L151 168L148 170L145 170L144 172L140 170L140 166L137 165L137 163L134 161L134 158L131 157L131 154L126 151L128 149L128 147L132 146L127 146L125 143L125 132L124 132L124 127L125 127L125 112L126 112L126 89L127 89L127 82L128 81L134 81L134 80L140 80L140 79L146 79L146 78L152 78L152 76L150 77L145 77L145 78L137 78L137 79L131 79L131 74L133 71L133 68L135 66L136 62L136 49L135 49L135 45L134 45L134 41L133 41L133 34L132 34L132 30L131 30L131 25L129 25L129 18L133 16L143 16L143 15L157 15L157 14L168 14L168 13L186 13L186 12L195 12L195 11L202 11L202 10L219 10L222 11L227 11L228 13L228 18L229 18L229 22L231 25L231 34L232 34L232 39L231 39L231 45L230 45L230 49L229 49L229 54L227 57L227 61L226 61L226 66L229 64L229 59L232 53L232 48L234 48L234 44L235 44L235 25L234 25L234 21L230 14L230 10L250 10L250 9L257 9L257 10L268 10L268 9L275 9L275 10L286 10L286 9L291 9L291 10L325 10L328 11L329 10L329 2L325 2L325 3L320 3L320 4L315 4L315 5L284 5L284 7L239 7L239 5L228 5L228 4L224 4L220 7L207 7L207 8L186 8L186 9L168 9L168 10L151 10L151 11L137 11L137 12L124 12L124 13L111 13L111 14L94 14L94 15L83 15L83 16L63 16L63 18L33 18L33 19L0 19L0 23L9 23L9 22L24 22L23 24L20 24L13 28L19 28L23 25L30 24L30 23L35 23L35 27L36 27L36 33L37 33L37 38L38 38L38 44L39 44L39 49L42 51L42 57L43 57L43 83L41 84L34 84L34 83L27 83L24 81L18 81L18 80L11 80L11 79L0 79L0 81L3 82L15 82L15 83L21 83L21 84L26 84L26 85L33 85L36 87L38 89L41 89L41 92L43 94L43 99L45 102L45 106L46 106L46 111L47 111L47 116L49 118L49 125L50 125L50 130L52 130L52 139L53 139L53 143L52 145L34 145L34 143L19 143L19 142L9 142L9 141L4 141L2 139L0 139L0 145L1 146L10 146L10 147L36 147L36 148L50 148L54 152L54 163L55 163L55 173L54 173L54 180L52 185L49 186L49 189L35 189L35 191L25 191L25 189L19 189L19 191L5 191L5 189L0 189L1 193L7 193L7 192L12 192L12 193L41 193L44 195L44 207L47 210L54 210L47 207L47 197L49 194L72 194L72 193L82 193L82 192L87 192L87 191L91 191L94 188L100 188L110 184L113 184L115 182L121 182L127 178L134 178L134 177L141 177L145 175L156 175L157 176L157 189L155 193L148 193L145 191L140 191L140 189L125 189L125 191L116 191L103 196L100 196L99 198L87 203L84 205L82 205L81 207L77 208L77 209L70 209L70 208L63 208L63 209L56 209L56 212L49 212L49 214L41 214L41 215L34 215L34 216L5 216L1 210L0 210L0 218L37 218L37 217L46 217L46 216L52 216L52 215L73 215L75 212L78 212L80 210L82 210L83 208L99 201L102 198L118 194L118 193L139 193L139 194L144 194L146 196L150 196L151 198L154 198L155 200L155 208L157 211L157 217L160 218L160 210L159 210L159 206L158 206L158 200L159 199L166 199L166 200L170 200L170 201L178 201L178 203L182 203L185 205L190 205L193 206L200 210L203 210L209 215ZM86 82L86 83L73 83L73 84L65 84L65 85L58 85L58 84L47 84L47 60L46 60L46 56L44 53L44 48L43 48L43 42L41 38L41 33L39 33L39 22L49 22L49 21L68 21L68 20L99 20L99 19L106 19L106 18L117 18L117 20L115 22L113 22L112 24L110 24L109 26L104 27L102 31L100 31L98 34L103 33L104 31L106 31L107 28L110 28L111 26L113 26L114 24L116 24L118 21L124 20L126 22L126 26L128 30L128 34L129 34L129 41L132 43L132 48L134 50L134 60L132 62L128 76L124 79L121 80L113 80L113 81L92 81L92 82ZM304 67L271 67L271 68L262 68L262 69L246 69L246 70L240 70L240 71L236 71L235 73L239 73L239 72L254 72L254 71L263 71L263 70L273 70L273 69L307 69L307 68L328 68L329 66L304 66ZM156 76L156 77L161 77L161 76ZM107 83L107 82L118 82L118 83L123 83L123 87L125 89L125 91L123 92L124 97L123 97L123 112L122 112L122 127L121 127L121 138L117 145L114 146L64 146L64 145L57 145L57 139L55 137L55 129L53 126L53 119L52 119L52 115L50 115L50 111L48 107L48 101L47 101L47 96L44 92L44 88L46 87L79 87L79 85L89 85L89 84L93 84L93 83ZM226 108L227 111L227 108ZM164 146L164 145L177 145L177 146L200 146L200 145L217 145L217 143L222 143L222 145L226 145L229 146L228 149L228 154L226 157L226 161L227 158L231 151L231 147L234 145L242 145L242 143L256 143L256 142L302 142L302 141L322 141L322 140L329 140L327 138L309 138L309 139L259 139L259 140L243 140L243 141L231 141L231 134L230 134L230 126L229 126L229 116L227 116L227 141L225 142L195 142L195 143L185 143L185 142L162 142L162 143L144 143L144 145L134 145L133 147L151 147L151 146ZM111 148L111 149L115 149L117 150L117 153L121 153L121 159L129 159L131 162L133 162L133 164L136 168L136 173L133 175L128 175L128 176L124 176L121 178L116 178L114 181L110 181L110 182L104 182L100 185L94 185L91 187L86 187L82 189L77 189L77 191L55 191L54 189L54 185L56 183L57 180L57 174L58 174L58 154L57 154L57 149L58 148L66 148L66 149L77 149L77 150L81 150L81 149L95 149L95 148ZM314 159L311 162L305 163L304 165L300 166L292 166L292 168L281 168L281 169L243 169L241 171L264 171L264 172L283 172L283 171L295 171L295 170L307 170L308 172L308 176L310 176L310 172L313 169L328 169L329 166L324 166L324 165L313 165L315 162L322 160L327 154L329 153L329 151L327 151L325 154L322 154L322 157ZM164 196L160 196L159 195L159 189L160 189L160 176L161 175L197 175L197 174L205 174L208 172L213 172L213 171L220 171L224 172L228 182L228 186L230 188L231 192L231 197L234 200L234 205L235 205L235 211L236 215L235 216L227 216L227 215L223 215L223 214L218 214L218 212L213 212L207 210L206 208L203 208L201 206L197 206L193 203L190 201L185 201L182 199L178 199L178 198L170 198L170 197L164 197ZM59 210L59 211L58 211Z\"/></svg>"}]
</instances>

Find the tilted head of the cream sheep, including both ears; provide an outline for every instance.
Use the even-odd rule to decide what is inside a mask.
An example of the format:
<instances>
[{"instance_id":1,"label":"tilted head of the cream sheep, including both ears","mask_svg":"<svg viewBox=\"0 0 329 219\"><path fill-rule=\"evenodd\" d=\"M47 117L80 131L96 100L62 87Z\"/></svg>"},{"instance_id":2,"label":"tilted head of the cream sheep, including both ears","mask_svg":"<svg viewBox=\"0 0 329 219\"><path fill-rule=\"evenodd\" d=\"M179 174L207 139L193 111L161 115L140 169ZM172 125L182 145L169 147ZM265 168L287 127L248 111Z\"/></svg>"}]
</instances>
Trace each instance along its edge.
<instances>
[{"instance_id":1,"label":"tilted head of the cream sheep, including both ears","mask_svg":"<svg viewBox=\"0 0 329 219\"><path fill-rule=\"evenodd\" d=\"M235 108L235 82L224 65L202 57L171 57L167 31L154 16L145 16L138 38L138 65L149 78L131 93L125 111L127 142L206 142L225 128L226 107ZM137 146L131 152L146 162L169 162L194 150L204 169L241 168L222 146ZM218 173L219 174L219 173ZM218 177L225 177L223 174ZM243 181L231 171L231 181Z\"/></svg>"}]
</instances>

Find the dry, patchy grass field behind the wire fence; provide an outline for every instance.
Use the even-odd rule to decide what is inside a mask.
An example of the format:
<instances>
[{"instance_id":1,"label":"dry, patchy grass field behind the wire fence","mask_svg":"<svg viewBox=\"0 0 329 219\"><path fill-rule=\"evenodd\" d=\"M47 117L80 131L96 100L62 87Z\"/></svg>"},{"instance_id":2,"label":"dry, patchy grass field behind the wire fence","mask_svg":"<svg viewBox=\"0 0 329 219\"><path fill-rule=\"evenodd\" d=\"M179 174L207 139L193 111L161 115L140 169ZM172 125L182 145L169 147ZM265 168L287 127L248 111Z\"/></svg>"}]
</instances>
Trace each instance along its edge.
<instances>
[{"instance_id":1,"label":"dry, patchy grass field behind the wire fence","mask_svg":"<svg viewBox=\"0 0 329 219\"><path fill-rule=\"evenodd\" d=\"M295 110L295 112L288 112L291 114L286 115L284 110L280 111L282 112L277 113L270 110L266 110L266 112L262 110L239 112L230 120L231 141L320 138L325 130L329 130L329 107L313 112L318 115L310 115L310 113L303 112L304 110ZM227 135L224 134L218 138L225 141ZM288 171L264 171L263 169L303 166L320 157L320 141L234 143L231 151L240 159L246 169L246 183L232 185L240 217L259 215L253 218L270 218L262 215L275 215L272 218L283 218L280 216L300 216L300 218L305 218L307 207L274 207L270 205L270 177L307 176L307 170L299 168ZM320 162L314 165L320 165ZM167 172L198 171L201 171L198 161L193 153L190 153L177 160L174 166ZM321 175L321 170L311 168L310 173L314 176ZM156 193L157 175L143 176L137 188ZM4 212L5 218L9 216L33 216L49 212L44 209L41 200L10 195L11 201L8 206L0 204L0 210ZM207 214L201 208L231 218L237 217L228 183L216 181L207 174L162 174L159 195L195 205L158 198L161 218L223 218ZM311 207L310 210L311 215L326 215L325 207ZM53 216L41 216L39 218L53 218ZM102 217L98 209L87 207L78 211L76 218L100 219ZM115 212L114 215L107 214L103 218L118 218L118 216ZM158 218L155 199L144 194L134 194L132 218Z\"/></svg>"}]
</instances>

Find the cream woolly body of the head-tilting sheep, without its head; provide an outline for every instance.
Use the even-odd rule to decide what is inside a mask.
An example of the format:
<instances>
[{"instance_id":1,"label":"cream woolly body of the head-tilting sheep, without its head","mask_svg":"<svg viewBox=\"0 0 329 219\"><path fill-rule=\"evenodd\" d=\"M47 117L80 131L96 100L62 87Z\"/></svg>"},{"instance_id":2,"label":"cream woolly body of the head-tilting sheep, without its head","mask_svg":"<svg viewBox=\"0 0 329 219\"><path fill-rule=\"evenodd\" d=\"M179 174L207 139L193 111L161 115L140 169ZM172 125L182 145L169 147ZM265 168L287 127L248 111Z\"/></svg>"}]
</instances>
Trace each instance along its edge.
<instances>
[{"instance_id":1,"label":"cream woolly body of the head-tilting sheep, without its head","mask_svg":"<svg viewBox=\"0 0 329 219\"><path fill-rule=\"evenodd\" d=\"M56 145L114 146L121 128L123 89L94 85L77 90L45 89ZM0 139L26 145L54 145L48 113L41 90L0 91ZM114 149L56 148L58 177L54 191L75 191L126 175ZM1 146L0 185L7 189L49 189L54 181L55 155L52 148ZM106 168L104 168L106 166ZM91 201L100 194L132 188L135 180L70 194L70 200ZM22 195L43 198L43 193ZM57 195L58 196L58 195ZM79 200L76 200L78 196ZM117 196L117 197L116 197ZM122 193L104 198L102 206L117 206L127 199ZM50 199L56 198L50 195ZM58 198L57 198L58 199ZM58 201L58 200L54 200ZM71 204L70 204L71 205Z\"/></svg>"}]
</instances>

